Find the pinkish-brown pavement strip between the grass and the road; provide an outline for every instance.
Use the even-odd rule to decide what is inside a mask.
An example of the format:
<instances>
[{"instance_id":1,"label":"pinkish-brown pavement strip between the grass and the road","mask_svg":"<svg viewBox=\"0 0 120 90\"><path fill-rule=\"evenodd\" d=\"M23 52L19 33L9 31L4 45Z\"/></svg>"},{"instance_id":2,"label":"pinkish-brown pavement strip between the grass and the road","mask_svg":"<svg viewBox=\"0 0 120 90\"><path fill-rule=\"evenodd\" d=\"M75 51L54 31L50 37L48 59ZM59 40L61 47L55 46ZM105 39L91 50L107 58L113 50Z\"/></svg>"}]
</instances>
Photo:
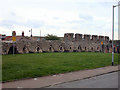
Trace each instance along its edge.
<instances>
[{"instance_id":1,"label":"pinkish-brown pavement strip between the grass and the road","mask_svg":"<svg viewBox=\"0 0 120 90\"><path fill-rule=\"evenodd\" d=\"M2 88L45 88L48 86L86 79L115 71L118 71L118 66L107 66L91 70L81 70L52 76L6 82L2 84Z\"/></svg>"}]
</instances>

